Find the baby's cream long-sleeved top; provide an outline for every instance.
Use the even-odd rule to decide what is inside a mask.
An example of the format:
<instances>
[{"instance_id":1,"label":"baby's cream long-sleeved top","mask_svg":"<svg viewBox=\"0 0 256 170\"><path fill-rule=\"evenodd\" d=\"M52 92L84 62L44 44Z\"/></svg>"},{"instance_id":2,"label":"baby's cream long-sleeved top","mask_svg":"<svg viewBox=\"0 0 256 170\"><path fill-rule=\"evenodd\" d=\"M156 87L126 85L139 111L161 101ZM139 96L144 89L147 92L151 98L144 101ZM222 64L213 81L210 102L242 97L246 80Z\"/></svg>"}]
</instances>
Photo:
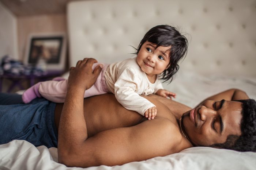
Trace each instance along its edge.
<instances>
[{"instance_id":1,"label":"baby's cream long-sleeved top","mask_svg":"<svg viewBox=\"0 0 256 170\"><path fill-rule=\"evenodd\" d=\"M158 78L154 83L148 80L146 73L140 69L136 57L110 64L105 72L105 82L121 105L143 116L147 109L155 105L140 94L147 96L163 89Z\"/></svg>"}]
</instances>

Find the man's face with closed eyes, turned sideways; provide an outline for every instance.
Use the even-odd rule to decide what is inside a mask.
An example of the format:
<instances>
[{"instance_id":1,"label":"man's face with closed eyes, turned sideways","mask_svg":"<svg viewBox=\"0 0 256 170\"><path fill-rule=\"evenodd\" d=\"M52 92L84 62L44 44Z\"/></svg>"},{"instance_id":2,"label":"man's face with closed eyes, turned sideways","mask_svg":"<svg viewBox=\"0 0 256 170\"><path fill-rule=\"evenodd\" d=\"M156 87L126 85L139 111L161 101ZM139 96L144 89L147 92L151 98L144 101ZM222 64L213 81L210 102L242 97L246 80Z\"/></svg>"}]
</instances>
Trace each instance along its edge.
<instances>
[{"instance_id":1,"label":"man's face with closed eyes, turned sideways","mask_svg":"<svg viewBox=\"0 0 256 170\"><path fill-rule=\"evenodd\" d=\"M242 103L207 100L182 116L183 128L196 146L226 142L229 135L241 135Z\"/></svg>"}]
</instances>

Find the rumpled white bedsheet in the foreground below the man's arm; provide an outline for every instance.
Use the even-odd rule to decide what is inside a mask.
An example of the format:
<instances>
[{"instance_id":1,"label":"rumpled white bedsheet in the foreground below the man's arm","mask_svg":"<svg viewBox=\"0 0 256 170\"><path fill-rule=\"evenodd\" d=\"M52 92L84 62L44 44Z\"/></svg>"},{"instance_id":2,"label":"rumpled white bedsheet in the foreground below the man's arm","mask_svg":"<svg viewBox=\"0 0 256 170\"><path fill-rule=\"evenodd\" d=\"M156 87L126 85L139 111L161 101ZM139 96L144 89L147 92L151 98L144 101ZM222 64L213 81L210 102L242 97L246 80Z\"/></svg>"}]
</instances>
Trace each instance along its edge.
<instances>
[{"instance_id":1,"label":"rumpled white bedsheet in the foreground below the man's arm","mask_svg":"<svg viewBox=\"0 0 256 170\"><path fill-rule=\"evenodd\" d=\"M1 170L79 170L57 163L57 148L35 147L25 140L0 145ZM86 170L255 170L255 152L237 152L210 147L188 148L180 153L155 157L122 166L88 167Z\"/></svg>"}]
</instances>

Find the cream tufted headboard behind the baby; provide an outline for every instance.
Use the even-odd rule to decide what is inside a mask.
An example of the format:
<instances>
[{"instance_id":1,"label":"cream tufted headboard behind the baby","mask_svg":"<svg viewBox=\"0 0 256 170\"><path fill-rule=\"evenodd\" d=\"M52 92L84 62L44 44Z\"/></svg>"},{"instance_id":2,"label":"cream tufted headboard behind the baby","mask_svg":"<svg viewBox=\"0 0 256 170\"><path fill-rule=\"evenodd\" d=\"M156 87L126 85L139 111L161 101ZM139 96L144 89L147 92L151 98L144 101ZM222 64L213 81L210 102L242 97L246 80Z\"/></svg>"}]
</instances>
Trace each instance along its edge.
<instances>
[{"instance_id":1,"label":"cream tufted headboard behind the baby","mask_svg":"<svg viewBox=\"0 0 256 170\"><path fill-rule=\"evenodd\" d=\"M85 0L67 12L71 66L131 58L151 27L169 24L189 41L181 72L256 76L256 0Z\"/></svg>"}]
</instances>

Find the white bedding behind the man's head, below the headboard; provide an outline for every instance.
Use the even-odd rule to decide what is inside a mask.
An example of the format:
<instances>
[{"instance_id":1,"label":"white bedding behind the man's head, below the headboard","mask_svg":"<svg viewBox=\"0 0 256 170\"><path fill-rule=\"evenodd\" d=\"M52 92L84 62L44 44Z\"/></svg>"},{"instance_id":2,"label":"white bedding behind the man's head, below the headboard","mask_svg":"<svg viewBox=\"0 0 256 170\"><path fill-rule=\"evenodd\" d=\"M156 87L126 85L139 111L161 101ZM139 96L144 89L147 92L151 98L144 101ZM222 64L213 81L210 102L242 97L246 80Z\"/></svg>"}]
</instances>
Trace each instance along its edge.
<instances>
[{"instance_id":1,"label":"white bedding behind the man's head, below the headboard","mask_svg":"<svg viewBox=\"0 0 256 170\"><path fill-rule=\"evenodd\" d=\"M256 77L198 76L196 73L179 70L174 80L163 86L177 93L176 101L192 108L203 99L229 88L244 90L250 98L256 100Z\"/></svg>"}]
</instances>

